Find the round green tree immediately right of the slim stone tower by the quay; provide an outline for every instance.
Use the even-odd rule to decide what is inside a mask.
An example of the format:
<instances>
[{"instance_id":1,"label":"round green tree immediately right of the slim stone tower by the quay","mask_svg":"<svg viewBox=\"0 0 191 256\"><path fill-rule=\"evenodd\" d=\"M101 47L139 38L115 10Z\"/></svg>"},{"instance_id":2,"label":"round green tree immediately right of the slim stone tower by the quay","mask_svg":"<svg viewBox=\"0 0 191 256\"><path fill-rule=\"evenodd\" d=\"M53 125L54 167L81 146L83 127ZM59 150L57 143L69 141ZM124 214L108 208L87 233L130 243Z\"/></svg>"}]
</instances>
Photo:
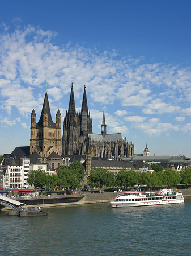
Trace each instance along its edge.
<instances>
[{"instance_id":1,"label":"round green tree immediately right of the slim stone tower by the quay","mask_svg":"<svg viewBox=\"0 0 191 256\"><path fill-rule=\"evenodd\" d=\"M103 168L96 168L90 171L90 176L88 180L88 185L90 187L96 187L100 189L105 185L106 187L111 187L114 185L115 179L113 172L104 170Z\"/></svg>"}]
</instances>

